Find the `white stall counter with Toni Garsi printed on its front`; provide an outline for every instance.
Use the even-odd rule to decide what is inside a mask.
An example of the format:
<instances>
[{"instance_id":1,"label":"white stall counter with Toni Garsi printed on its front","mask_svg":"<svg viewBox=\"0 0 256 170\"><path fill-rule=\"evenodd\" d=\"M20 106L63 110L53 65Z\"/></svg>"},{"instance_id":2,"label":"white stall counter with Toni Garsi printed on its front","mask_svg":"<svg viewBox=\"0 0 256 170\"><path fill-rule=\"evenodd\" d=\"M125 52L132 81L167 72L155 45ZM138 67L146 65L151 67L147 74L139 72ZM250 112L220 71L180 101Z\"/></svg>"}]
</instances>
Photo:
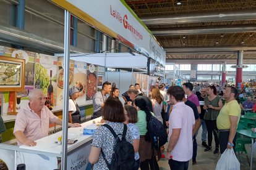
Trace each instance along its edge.
<instances>
[{"instance_id":1,"label":"white stall counter with Toni Garsi printed on its front","mask_svg":"<svg viewBox=\"0 0 256 170\"><path fill-rule=\"evenodd\" d=\"M96 123L100 118L93 119ZM82 127L70 127L68 139L77 140L75 144L67 145L67 169L86 169L92 135L83 135L83 127L93 123L87 121ZM62 131L42 139L36 140L35 147L20 147L0 144L0 159L5 161L9 169L16 169L17 164L25 163L29 169L58 169L61 162L62 145L58 145L56 139L62 136ZM15 161L14 161L15 160Z\"/></svg>"}]
</instances>

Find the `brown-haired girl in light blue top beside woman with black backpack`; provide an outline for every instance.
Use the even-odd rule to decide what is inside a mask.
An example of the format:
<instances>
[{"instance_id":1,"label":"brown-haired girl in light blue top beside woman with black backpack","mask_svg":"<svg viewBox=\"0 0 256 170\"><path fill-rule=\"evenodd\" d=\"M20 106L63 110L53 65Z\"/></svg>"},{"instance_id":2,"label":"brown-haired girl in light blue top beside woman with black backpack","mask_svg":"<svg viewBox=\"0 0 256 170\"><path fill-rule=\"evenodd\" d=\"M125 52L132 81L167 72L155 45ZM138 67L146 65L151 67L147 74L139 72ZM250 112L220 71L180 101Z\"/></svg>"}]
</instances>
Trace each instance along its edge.
<instances>
[{"instance_id":1,"label":"brown-haired girl in light blue top beside woman with black backpack","mask_svg":"<svg viewBox=\"0 0 256 170\"><path fill-rule=\"evenodd\" d=\"M126 117L126 121L124 121L124 124L127 124L128 129L132 133L132 140L134 140L134 143L132 145L134 146L134 152L135 152L134 158L137 164L134 170L138 170L140 168L140 156L139 156L140 131L139 131L139 128L135 125L135 123L137 123L138 121L137 110L132 106L125 105L124 115Z\"/></svg>"}]
</instances>

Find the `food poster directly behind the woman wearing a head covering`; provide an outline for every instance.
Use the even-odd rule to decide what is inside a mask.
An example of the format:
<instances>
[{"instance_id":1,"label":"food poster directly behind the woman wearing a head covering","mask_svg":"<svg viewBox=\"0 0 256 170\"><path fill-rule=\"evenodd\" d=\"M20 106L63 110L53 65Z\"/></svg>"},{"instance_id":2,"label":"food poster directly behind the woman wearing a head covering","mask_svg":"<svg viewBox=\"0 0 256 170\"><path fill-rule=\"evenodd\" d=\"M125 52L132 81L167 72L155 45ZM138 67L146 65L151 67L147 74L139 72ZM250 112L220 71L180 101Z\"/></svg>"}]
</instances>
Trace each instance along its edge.
<instances>
[{"instance_id":1,"label":"food poster directly behind the woman wearing a head covering","mask_svg":"<svg viewBox=\"0 0 256 170\"><path fill-rule=\"evenodd\" d=\"M74 62L74 86L79 89L79 98L75 101L78 105L85 105L86 92L87 63Z\"/></svg>"}]
</instances>

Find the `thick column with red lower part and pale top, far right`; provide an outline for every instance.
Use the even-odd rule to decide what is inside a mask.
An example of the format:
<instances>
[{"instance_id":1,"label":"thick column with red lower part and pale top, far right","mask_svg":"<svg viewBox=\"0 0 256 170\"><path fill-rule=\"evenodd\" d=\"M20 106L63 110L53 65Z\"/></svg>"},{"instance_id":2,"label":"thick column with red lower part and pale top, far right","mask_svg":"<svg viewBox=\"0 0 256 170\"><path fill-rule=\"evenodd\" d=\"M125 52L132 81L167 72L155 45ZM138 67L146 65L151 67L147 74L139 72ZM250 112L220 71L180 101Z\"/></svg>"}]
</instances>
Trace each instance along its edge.
<instances>
[{"instance_id":1,"label":"thick column with red lower part and pale top, far right","mask_svg":"<svg viewBox=\"0 0 256 170\"><path fill-rule=\"evenodd\" d=\"M236 67L236 87L242 88L242 63L243 63L244 51L237 52L237 67Z\"/></svg>"}]
</instances>

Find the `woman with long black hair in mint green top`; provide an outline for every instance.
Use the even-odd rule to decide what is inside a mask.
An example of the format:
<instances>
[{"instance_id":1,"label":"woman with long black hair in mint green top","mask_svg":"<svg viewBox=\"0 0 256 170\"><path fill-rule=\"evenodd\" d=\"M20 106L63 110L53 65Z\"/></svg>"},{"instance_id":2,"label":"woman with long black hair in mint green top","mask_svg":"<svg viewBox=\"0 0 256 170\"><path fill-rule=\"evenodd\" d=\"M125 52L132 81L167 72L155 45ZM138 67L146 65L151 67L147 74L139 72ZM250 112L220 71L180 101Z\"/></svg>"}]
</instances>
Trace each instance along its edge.
<instances>
[{"instance_id":1,"label":"woman with long black hair in mint green top","mask_svg":"<svg viewBox=\"0 0 256 170\"><path fill-rule=\"evenodd\" d=\"M136 126L139 128L140 131L140 169L158 170L159 166L156 161L155 149L152 148L150 134L148 132L148 123L153 113L150 112L147 107L147 103L142 98L134 99L134 107L137 109L138 113L138 121L136 123Z\"/></svg>"}]
</instances>

